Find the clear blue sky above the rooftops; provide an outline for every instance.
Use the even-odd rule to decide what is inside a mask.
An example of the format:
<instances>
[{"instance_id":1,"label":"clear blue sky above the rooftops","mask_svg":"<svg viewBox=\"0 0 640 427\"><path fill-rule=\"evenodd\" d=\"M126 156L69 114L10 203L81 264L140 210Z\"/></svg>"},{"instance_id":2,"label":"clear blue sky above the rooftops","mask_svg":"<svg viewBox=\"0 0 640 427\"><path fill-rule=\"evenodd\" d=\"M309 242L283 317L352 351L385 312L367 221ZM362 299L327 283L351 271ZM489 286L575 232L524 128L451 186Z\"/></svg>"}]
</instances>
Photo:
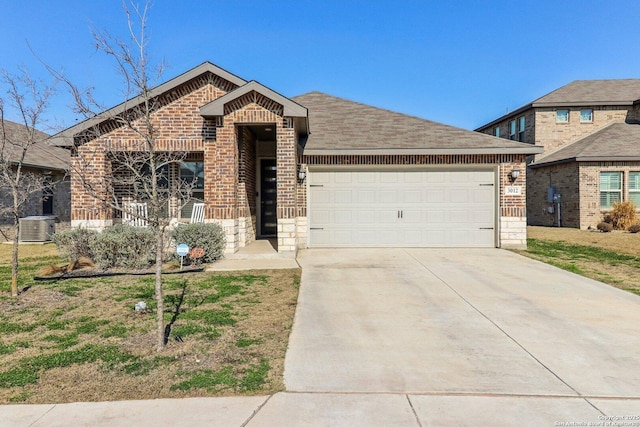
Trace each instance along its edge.
<instances>
[{"instance_id":1,"label":"clear blue sky above the rooftops","mask_svg":"<svg viewBox=\"0 0 640 427\"><path fill-rule=\"evenodd\" d=\"M123 101L90 29L126 35L118 0L5 0L0 68L43 61L107 106ZM640 2L156 0L164 80L204 61L285 95L322 91L474 129L577 79L640 78ZM49 124L77 117L59 86Z\"/></svg>"}]
</instances>

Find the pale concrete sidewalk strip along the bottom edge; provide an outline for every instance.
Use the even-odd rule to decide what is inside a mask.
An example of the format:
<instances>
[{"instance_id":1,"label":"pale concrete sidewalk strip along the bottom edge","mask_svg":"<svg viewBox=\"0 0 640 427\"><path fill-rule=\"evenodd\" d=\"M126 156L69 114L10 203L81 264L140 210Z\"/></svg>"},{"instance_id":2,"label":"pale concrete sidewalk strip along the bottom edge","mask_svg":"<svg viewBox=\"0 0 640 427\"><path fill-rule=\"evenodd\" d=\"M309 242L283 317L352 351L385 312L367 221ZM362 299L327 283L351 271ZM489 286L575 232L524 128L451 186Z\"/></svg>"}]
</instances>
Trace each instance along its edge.
<instances>
[{"instance_id":1,"label":"pale concrete sidewalk strip along the bottom edge","mask_svg":"<svg viewBox=\"0 0 640 427\"><path fill-rule=\"evenodd\" d=\"M632 418L634 414L640 414L640 400L558 396L284 392L274 396L255 397L6 405L0 406L0 425L638 426L640 419ZM605 424L607 421L619 424ZM622 424L623 422L627 424Z\"/></svg>"}]
</instances>

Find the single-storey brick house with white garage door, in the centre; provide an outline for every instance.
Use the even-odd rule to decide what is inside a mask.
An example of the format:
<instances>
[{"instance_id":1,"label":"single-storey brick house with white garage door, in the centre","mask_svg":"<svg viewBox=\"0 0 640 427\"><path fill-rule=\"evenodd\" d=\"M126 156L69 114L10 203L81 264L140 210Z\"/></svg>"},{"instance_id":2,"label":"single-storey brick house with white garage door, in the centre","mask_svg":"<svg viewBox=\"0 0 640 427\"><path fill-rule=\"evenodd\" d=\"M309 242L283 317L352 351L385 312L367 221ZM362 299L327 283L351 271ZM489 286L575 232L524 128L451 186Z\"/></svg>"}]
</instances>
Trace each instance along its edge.
<instances>
[{"instance_id":1,"label":"single-storey brick house with white garage door, in the centre","mask_svg":"<svg viewBox=\"0 0 640 427\"><path fill-rule=\"evenodd\" d=\"M178 178L200 171L205 222L222 224L227 252L261 237L277 238L284 253L526 245L525 159L539 147L317 92L289 99L208 62L153 94L158 144L190 152L195 164L177 168ZM73 145L72 161L91 155L92 173L109 173L107 146L135 141L109 117L135 104L57 138ZM522 172L515 182L514 170ZM73 169L71 179L73 226L118 221Z\"/></svg>"}]
</instances>

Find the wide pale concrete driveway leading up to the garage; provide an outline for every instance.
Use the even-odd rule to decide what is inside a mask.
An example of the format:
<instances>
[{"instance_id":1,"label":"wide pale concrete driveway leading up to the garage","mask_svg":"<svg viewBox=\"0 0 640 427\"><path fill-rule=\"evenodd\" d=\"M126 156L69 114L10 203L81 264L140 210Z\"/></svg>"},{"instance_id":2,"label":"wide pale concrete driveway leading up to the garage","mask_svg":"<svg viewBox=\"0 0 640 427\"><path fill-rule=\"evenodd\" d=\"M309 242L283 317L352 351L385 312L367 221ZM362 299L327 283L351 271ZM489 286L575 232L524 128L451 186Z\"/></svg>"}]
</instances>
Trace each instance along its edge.
<instances>
[{"instance_id":1,"label":"wide pale concrete driveway leading up to the garage","mask_svg":"<svg viewBox=\"0 0 640 427\"><path fill-rule=\"evenodd\" d=\"M456 396L511 408L578 398L590 411L624 398L640 414L636 295L499 249L312 249L298 261L288 391L449 397L453 411Z\"/></svg>"}]
</instances>

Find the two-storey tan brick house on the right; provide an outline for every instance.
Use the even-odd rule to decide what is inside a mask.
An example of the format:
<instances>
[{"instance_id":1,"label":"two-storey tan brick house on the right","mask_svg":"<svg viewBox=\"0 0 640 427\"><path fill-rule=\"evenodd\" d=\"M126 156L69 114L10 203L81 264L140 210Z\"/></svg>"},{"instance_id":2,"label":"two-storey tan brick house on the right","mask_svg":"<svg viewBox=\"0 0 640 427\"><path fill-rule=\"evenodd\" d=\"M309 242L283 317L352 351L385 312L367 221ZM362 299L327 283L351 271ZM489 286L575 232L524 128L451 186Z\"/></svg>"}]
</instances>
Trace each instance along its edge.
<instances>
[{"instance_id":1,"label":"two-storey tan brick house on the right","mask_svg":"<svg viewBox=\"0 0 640 427\"><path fill-rule=\"evenodd\" d=\"M640 208L639 123L640 79L577 80L476 130L544 147L527 168L529 224L586 229L615 202Z\"/></svg>"}]
</instances>

